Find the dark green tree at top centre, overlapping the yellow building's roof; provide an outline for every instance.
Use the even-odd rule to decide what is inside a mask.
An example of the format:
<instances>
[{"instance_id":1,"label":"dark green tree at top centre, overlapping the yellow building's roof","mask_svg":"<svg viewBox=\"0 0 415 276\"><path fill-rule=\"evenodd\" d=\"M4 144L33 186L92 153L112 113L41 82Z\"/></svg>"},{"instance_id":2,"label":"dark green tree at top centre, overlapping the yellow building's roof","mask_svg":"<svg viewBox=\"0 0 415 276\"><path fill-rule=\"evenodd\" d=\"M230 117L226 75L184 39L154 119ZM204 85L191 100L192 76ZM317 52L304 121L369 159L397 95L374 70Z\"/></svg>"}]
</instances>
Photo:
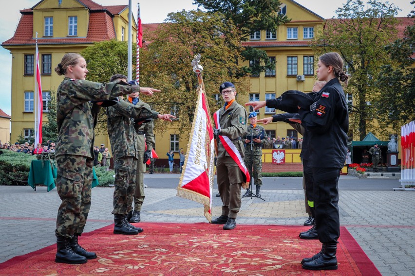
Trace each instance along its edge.
<instances>
[{"instance_id":1,"label":"dark green tree at top centre, overlapping the yellow building's roof","mask_svg":"<svg viewBox=\"0 0 415 276\"><path fill-rule=\"evenodd\" d=\"M220 13L225 20L236 26L224 30L224 35L230 32L239 34L242 40L247 40L252 32L269 30L275 32L282 24L291 19L280 13L279 0L194 0L199 7L209 13ZM264 50L253 47L239 47L242 60L252 60L253 64L243 67L245 73L259 75L266 69L275 69L275 62L270 62Z\"/></svg>"}]
</instances>

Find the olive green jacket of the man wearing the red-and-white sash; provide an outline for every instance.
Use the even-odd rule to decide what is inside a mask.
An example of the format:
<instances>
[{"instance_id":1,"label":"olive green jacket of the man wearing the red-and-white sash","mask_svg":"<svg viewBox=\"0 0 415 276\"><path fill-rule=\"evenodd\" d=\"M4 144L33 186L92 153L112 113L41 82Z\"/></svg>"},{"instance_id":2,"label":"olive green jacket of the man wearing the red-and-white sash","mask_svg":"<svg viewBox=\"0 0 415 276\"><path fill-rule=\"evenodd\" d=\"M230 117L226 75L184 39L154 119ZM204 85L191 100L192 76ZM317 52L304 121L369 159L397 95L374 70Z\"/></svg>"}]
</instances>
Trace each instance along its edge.
<instances>
[{"instance_id":1,"label":"olive green jacket of the man wearing the red-and-white sash","mask_svg":"<svg viewBox=\"0 0 415 276\"><path fill-rule=\"evenodd\" d=\"M242 137L246 132L246 121L248 120L248 114L246 109L238 104L236 101L229 106L228 109L222 107L219 112L219 123L221 125L222 136L227 136L235 147L238 149L239 154L244 157L245 149ZM230 156L227 154L224 146L218 139L218 158Z\"/></svg>"}]
</instances>

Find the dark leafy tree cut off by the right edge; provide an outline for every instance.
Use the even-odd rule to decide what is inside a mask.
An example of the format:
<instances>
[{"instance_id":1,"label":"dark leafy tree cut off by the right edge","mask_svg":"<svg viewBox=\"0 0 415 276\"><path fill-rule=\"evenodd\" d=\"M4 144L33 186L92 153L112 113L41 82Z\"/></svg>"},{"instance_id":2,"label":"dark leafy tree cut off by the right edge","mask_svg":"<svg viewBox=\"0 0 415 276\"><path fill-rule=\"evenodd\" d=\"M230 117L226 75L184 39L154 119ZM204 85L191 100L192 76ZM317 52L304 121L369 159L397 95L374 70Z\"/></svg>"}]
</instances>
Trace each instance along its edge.
<instances>
[{"instance_id":1,"label":"dark leafy tree cut off by the right edge","mask_svg":"<svg viewBox=\"0 0 415 276\"><path fill-rule=\"evenodd\" d=\"M412 4L415 1L411 2ZM409 17L415 17L413 10ZM415 120L415 24L405 29L404 37L386 46L395 63L382 66L377 79L380 91L377 101L379 113L386 114L382 121L399 130L399 127Z\"/></svg>"}]
</instances>

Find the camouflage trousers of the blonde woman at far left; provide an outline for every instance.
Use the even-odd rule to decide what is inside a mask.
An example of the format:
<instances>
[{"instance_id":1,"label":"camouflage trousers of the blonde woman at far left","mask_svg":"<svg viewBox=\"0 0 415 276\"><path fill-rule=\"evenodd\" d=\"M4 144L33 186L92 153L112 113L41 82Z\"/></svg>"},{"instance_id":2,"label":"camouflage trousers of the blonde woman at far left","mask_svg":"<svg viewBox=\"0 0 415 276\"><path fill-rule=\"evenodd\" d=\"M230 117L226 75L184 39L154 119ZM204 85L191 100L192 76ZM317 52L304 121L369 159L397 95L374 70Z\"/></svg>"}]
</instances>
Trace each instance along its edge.
<instances>
[{"instance_id":1,"label":"camouflage trousers of the blonde woman at far left","mask_svg":"<svg viewBox=\"0 0 415 276\"><path fill-rule=\"evenodd\" d=\"M91 207L92 158L58 155L56 187L62 203L57 211L56 234L72 238L84 231Z\"/></svg>"}]
</instances>

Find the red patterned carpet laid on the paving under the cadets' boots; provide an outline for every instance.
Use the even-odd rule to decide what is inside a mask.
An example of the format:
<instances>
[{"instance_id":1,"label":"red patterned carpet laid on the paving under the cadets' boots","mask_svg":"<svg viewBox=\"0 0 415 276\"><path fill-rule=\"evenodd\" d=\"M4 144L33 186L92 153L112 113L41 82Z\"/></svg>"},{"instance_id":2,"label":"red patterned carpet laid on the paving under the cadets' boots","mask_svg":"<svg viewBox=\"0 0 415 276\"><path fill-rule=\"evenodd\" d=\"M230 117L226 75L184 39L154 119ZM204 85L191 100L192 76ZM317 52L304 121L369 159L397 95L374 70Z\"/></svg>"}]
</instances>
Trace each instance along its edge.
<instances>
[{"instance_id":1,"label":"red patterned carpet laid on the paving under the cadets' boots","mask_svg":"<svg viewBox=\"0 0 415 276\"><path fill-rule=\"evenodd\" d=\"M341 227L336 271L303 270L300 261L321 249L301 240L307 227L207 223L141 223L135 236L114 235L113 225L85 233L79 243L98 255L86 264L55 263L56 245L0 263L0 275L380 275ZM53 231L52 231L53 232Z\"/></svg>"}]
</instances>

